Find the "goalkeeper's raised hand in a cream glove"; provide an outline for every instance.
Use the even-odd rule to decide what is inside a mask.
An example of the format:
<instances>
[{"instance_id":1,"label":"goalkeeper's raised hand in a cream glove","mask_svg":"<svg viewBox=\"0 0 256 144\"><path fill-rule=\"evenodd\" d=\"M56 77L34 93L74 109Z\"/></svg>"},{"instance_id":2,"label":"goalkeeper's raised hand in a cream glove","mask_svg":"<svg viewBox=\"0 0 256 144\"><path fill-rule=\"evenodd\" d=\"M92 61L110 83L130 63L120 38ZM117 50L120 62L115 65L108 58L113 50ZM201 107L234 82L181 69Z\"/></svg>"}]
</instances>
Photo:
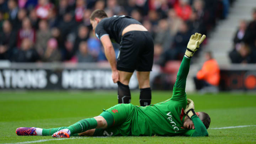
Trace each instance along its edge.
<instances>
[{"instance_id":1,"label":"goalkeeper's raised hand in a cream glove","mask_svg":"<svg viewBox=\"0 0 256 144\"><path fill-rule=\"evenodd\" d=\"M194 52L196 52L199 48L199 45L204 41L206 38L206 35L195 33L190 37L190 41L187 45L187 50L185 52L185 55L189 58L191 58L194 55Z\"/></svg>"}]
</instances>

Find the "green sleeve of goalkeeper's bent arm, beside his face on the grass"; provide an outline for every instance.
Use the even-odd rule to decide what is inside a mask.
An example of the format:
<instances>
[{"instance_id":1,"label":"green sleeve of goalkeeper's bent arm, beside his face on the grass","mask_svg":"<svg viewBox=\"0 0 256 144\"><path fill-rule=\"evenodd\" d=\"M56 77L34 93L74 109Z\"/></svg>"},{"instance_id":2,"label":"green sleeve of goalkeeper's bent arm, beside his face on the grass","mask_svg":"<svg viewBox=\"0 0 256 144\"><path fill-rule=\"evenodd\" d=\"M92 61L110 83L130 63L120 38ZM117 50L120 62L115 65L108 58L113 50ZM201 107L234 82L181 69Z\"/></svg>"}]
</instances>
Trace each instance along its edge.
<instances>
[{"instance_id":1,"label":"green sleeve of goalkeeper's bent arm, beside his face on the grass","mask_svg":"<svg viewBox=\"0 0 256 144\"><path fill-rule=\"evenodd\" d=\"M201 119L197 115L192 116L191 119L195 127L195 132L192 134L192 137L203 137L203 136L208 137L207 129L204 126Z\"/></svg>"}]
</instances>

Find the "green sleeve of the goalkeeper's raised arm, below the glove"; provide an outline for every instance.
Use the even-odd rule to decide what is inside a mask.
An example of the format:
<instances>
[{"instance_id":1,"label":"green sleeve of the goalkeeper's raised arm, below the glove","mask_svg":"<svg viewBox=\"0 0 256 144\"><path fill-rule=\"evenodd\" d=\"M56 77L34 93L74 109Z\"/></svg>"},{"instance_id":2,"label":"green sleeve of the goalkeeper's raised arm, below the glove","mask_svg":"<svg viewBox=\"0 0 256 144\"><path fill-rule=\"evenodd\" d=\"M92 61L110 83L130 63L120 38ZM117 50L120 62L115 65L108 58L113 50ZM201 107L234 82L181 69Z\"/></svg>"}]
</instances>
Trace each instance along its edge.
<instances>
[{"instance_id":1,"label":"green sleeve of the goalkeeper's raised arm, below the glove","mask_svg":"<svg viewBox=\"0 0 256 144\"><path fill-rule=\"evenodd\" d=\"M189 68L190 68L190 58L186 58L184 56L182 59L180 69L177 74L177 79L174 84L174 89L172 92L171 99L174 101L180 101L180 100L183 101L183 99L185 100L187 99L185 88L186 88L186 79L187 79Z\"/></svg>"}]
</instances>

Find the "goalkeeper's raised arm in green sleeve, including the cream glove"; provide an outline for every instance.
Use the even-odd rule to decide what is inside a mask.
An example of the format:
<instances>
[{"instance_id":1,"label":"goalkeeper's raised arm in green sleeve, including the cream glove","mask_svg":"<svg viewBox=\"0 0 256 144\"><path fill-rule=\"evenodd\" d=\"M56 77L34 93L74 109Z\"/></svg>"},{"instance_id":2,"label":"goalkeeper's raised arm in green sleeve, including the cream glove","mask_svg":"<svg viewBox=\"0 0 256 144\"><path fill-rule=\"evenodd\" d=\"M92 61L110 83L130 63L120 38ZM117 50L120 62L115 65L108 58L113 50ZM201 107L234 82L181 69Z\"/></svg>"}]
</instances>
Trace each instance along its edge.
<instances>
[{"instance_id":1,"label":"goalkeeper's raised arm in green sleeve, including the cream glove","mask_svg":"<svg viewBox=\"0 0 256 144\"><path fill-rule=\"evenodd\" d=\"M205 35L203 35L202 37L201 36L202 34L195 33L190 37L190 40L187 45L186 53L182 59L180 69L178 70L177 79L174 84L172 100L178 101L182 98L183 101L186 101L185 88L186 88L187 75L190 68L190 60L194 52L198 50L199 45L206 38Z\"/></svg>"}]
</instances>

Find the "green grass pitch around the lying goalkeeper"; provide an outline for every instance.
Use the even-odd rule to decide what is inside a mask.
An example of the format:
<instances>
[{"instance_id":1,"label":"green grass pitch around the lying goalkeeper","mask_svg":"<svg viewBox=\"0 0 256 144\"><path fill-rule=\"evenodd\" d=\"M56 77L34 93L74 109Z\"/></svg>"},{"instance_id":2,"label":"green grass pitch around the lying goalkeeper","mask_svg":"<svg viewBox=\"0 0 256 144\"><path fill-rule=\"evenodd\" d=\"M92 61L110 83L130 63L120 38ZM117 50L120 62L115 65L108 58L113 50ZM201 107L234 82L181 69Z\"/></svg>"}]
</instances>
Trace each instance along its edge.
<instances>
[{"instance_id":1,"label":"green grass pitch around the lying goalkeeper","mask_svg":"<svg viewBox=\"0 0 256 144\"><path fill-rule=\"evenodd\" d=\"M152 103L171 97L171 91L153 91ZM116 91L1 91L0 144L2 143L89 143L89 144L146 144L146 143L256 143L256 94L220 93L199 95L188 93L196 111L211 117L209 137L71 137L54 139L50 136L17 136L18 127L53 128L69 126L80 119L94 117L117 104ZM132 92L132 103L139 105L139 91ZM161 123L159 123L161 124Z\"/></svg>"}]
</instances>

